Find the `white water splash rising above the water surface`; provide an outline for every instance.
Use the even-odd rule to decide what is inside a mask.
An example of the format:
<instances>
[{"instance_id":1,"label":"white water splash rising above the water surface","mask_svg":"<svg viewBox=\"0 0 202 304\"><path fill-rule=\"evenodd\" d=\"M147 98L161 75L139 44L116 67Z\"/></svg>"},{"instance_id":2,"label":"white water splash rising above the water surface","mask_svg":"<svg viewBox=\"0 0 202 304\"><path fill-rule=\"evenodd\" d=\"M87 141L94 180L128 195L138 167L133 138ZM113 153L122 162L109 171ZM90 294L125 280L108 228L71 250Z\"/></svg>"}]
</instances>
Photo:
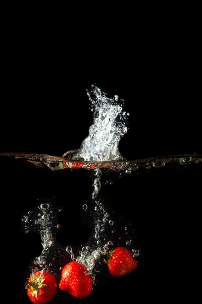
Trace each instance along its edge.
<instances>
[{"instance_id":1,"label":"white water splash rising above the water surface","mask_svg":"<svg viewBox=\"0 0 202 304\"><path fill-rule=\"evenodd\" d=\"M108 161L125 159L119 149L119 141L127 132L129 113L123 111L123 100L115 95L108 98L95 85L87 90L93 111L93 124L79 149L68 151L65 157L84 161Z\"/></svg>"}]
</instances>

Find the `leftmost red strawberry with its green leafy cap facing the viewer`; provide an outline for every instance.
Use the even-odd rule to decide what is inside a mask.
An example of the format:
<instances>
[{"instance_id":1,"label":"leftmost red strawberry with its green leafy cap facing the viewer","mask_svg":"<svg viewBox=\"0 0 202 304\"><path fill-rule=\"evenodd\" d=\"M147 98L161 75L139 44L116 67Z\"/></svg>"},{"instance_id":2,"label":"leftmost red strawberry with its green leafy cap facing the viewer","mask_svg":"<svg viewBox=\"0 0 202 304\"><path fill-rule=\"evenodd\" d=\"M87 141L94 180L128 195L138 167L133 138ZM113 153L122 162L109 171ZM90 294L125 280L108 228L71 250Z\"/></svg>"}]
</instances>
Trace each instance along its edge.
<instances>
[{"instance_id":1,"label":"leftmost red strawberry with its green leafy cap facing the viewer","mask_svg":"<svg viewBox=\"0 0 202 304\"><path fill-rule=\"evenodd\" d=\"M57 292L56 278L43 271L37 271L30 275L25 284L28 297L35 304L44 304L53 299Z\"/></svg>"}]
</instances>

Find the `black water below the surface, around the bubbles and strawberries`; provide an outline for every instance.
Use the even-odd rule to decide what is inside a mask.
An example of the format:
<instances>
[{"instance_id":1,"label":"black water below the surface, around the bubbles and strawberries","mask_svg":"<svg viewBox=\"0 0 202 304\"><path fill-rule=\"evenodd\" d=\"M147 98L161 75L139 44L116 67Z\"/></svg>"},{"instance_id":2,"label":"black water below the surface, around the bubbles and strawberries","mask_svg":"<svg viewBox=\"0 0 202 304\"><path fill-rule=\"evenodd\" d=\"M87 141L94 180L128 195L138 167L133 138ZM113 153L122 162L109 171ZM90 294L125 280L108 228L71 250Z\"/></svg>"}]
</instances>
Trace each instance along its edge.
<instances>
[{"instance_id":1,"label":"black water below the surface, around the bubbles and strawberries","mask_svg":"<svg viewBox=\"0 0 202 304\"><path fill-rule=\"evenodd\" d=\"M86 215L82 206L89 202L92 194L93 170L52 171L47 166L37 167L24 159L4 156L0 161L5 237L2 260L6 265L6 281L12 281L12 285L15 282L21 303L30 303L23 284L30 263L41 254L42 245L37 232L23 233L21 218L38 204L53 203L63 209L57 216L61 229L56 240L60 248L72 246L76 250L86 244L91 237L94 213ZM125 277L114 278L105 265L97 265L100 273L96 274L90 296L76 300L58 290L51 303L120 299L162 303L192 296L194 257L200 231L202 169L200 160L186 161L167 163L159 168L148 164L131 173L125 170L103 172L100 193L114 223L118 223L114 242L126 241L126 225L129 234L135 237L134 247L140 250L138 267ZM90 205L88 207L89 211ZM68 258L64 254L60 260L51 261L57 279L60 278L58 266ZM15 303L15 292L9 294L9 300Z\"/></svg>"}]
</instances>

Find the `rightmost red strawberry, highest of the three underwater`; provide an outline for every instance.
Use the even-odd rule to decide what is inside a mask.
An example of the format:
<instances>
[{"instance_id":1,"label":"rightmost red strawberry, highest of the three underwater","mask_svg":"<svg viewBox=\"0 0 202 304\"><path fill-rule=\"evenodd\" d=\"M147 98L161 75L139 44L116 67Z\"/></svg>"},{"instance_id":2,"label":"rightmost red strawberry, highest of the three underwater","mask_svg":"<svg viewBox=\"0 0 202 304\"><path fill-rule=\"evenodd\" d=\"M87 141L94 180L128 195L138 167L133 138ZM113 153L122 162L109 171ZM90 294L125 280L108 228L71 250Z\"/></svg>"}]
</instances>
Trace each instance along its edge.
<instances>
[{"instance_id":1,"label":"rightmost red strawberry, highest of the three underwater","mask_svg":"<svg viewBox=\"0 0 202 304\"><path fill-rule=\"evenodd\" d=\"M107 260L110 273L114 277L121 277L137 268L136 260L124 247L117 247L112 250Z\"/></svg>"}]
</instances>

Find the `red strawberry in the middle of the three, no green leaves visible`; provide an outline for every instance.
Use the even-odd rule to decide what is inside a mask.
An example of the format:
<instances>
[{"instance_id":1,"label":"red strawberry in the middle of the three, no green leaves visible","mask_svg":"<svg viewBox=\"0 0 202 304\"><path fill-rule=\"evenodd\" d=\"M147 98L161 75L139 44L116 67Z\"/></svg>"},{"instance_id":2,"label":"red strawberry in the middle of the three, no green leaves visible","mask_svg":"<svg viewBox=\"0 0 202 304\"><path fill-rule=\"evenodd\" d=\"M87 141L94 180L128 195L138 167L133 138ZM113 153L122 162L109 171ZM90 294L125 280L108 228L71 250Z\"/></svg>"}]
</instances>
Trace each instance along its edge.
<instances>
[{"instance_id":1,"label":"red strawberry in the middle of the three, no green leaves visible","mask_svg":"<svg viewBox=\"0 0 202 304\"><path fill-rule=\"evenodd\" d=\"M90 294L92 278L83 264L72 261L63 268L59 287L76 298L82 298Z\"/></svg>"}]
</instances>

